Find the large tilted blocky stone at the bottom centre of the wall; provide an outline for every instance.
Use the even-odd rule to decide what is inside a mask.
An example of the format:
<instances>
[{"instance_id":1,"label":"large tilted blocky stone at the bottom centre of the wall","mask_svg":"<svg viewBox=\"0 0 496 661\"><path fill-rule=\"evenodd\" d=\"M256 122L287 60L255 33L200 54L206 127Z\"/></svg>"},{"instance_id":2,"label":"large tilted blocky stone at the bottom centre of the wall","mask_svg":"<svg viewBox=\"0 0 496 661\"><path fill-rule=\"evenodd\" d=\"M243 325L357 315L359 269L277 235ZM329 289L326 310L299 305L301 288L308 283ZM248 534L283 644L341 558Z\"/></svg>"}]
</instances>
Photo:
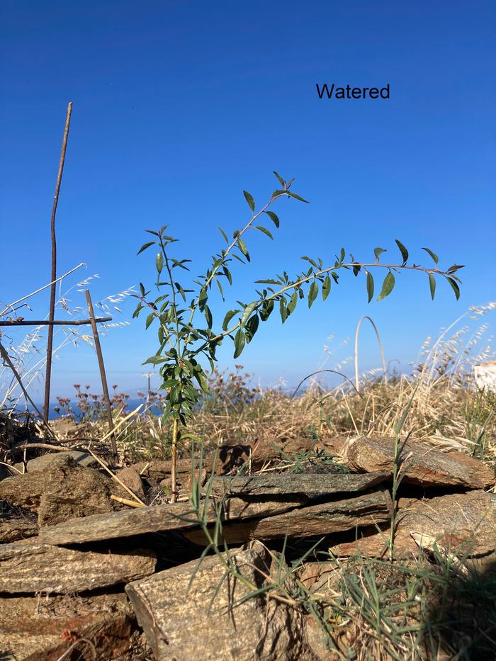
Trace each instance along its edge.
<instances>
[{"instance_id":1,"label":"large tilted blocky stone at the bottom centre of the wall","mask_svg":"<svg viewBox=\"0 0 496 661\"><path fill-rule=\"evenodd\" d=\"M276 563L259 542L230 555L253 589L264 584L261 572L275 575ZM232 576L226 578L217 556L205 558L199 568L194 560L126 587L157 661L304 658L303 615L260 594L235 605L252 591Z\"/></svg>"}]
</instances>

